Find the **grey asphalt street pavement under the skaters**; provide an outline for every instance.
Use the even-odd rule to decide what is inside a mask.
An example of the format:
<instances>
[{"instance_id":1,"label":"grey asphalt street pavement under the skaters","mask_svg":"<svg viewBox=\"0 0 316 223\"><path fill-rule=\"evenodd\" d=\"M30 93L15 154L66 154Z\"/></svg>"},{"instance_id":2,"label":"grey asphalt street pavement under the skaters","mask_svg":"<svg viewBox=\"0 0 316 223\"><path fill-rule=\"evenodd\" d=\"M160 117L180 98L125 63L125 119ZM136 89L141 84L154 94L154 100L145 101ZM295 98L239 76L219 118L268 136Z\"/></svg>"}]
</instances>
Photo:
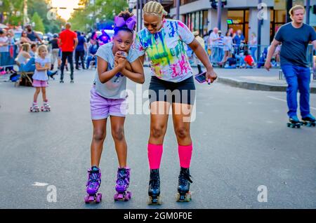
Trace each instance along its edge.
<instances>
[{"instance_id":1,"label":"grey asphalt street pavement under the skaters","mask_svg":"<svg viewBox=\"0 0 316 223\"><path fill-rule=\"evenodd\" d=\"M74 84L69 74L63 84L59 76L49 81L51 112L29 112L33 88L0 82L0 208L316 208L316 128L287 128L284 92L221 83L196 83L192 201L175 199L178 147L169 119L160 169L164 203L147 205L150 116L142 103L146 99L135 96L147 95L147 67L145 73L141 91L128 81L129 98L136 101L130 104L130 112L140 114L126 117L133 198L121 203L113 201L118 163L109 125L100 163L104 199L100 204L84 203L92 137L89 96L95 70L76 72ZM316 114L315 94L310 95L310 105ZM143 112L137 111L141 106ZM258 201L262 185L267 202ZM54 189L57 201L50 202Z\"/></svg>"}]
</instances>

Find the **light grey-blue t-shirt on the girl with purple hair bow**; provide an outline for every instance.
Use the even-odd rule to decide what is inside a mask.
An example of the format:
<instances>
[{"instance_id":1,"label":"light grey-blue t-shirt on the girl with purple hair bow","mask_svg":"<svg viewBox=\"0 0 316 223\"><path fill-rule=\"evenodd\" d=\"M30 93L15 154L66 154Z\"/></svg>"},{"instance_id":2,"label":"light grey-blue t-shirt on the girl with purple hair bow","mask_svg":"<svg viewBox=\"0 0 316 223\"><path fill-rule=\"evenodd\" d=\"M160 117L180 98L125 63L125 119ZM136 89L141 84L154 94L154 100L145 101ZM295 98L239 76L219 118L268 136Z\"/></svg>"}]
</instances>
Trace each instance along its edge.
<instances>
[{"instance_id":1,"label":"light grey-blue t-shirt on the girl with purple hair bow","mask_svg":"<svg viewBox=\"0 0 316 223\"><path fill-rule=\"evenodd\" d=\"M107 61L107 70L112 70L114 68L114 55L113 55L113 42L106 43L100 46L96 55L103 60ZM138 59L138 54L133 48L129 49L129 55L127 56L127 61L130 63ZM98 70L96 72L96 78L94 79L96 83L96 92L102 97L109 99L121 99L126 98L126 76L121 73L116 74L109 81L101 83L98 75Z\"/></svg>"}]
</instances>

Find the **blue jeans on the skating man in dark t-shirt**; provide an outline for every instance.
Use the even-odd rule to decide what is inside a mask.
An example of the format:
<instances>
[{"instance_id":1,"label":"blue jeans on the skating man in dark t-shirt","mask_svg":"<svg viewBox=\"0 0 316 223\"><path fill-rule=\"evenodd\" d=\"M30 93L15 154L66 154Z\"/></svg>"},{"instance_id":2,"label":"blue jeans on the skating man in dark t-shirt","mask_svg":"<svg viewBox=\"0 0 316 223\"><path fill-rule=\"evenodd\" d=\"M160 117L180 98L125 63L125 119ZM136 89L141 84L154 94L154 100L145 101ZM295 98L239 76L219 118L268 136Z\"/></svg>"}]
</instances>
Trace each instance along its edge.
<instances>
[{"instance_id":1,"label":"blue jeans on the skating man in dark t-shirt","mask_svg":"<svg viewBox=\"0 0 316 223\"><path fill-rule=\"evenodd\" d=\"M296 116L297 91L300 91L301 116L310 114L310 68L296 65L282 65L282 71L287 79L287 106L289 117Z\"/></svg>"}]
</instances>

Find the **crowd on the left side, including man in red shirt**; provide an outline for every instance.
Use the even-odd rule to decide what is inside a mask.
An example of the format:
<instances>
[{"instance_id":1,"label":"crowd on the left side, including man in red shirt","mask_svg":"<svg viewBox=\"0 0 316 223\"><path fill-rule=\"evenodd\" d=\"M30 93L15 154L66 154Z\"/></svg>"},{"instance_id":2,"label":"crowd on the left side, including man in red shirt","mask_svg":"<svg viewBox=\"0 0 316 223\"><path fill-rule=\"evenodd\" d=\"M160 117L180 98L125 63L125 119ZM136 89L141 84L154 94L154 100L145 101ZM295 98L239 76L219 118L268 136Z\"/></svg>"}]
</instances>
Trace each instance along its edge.
<instances>
[{"instance_id":1,"label":"crowd on the left side, including man in red shirt","mask_svg":"<svg viewBox=\"0 0 316 223\"><path fill-rule=\"evenodd\" d=\"M62 54L65 58L63 67L67 70L69 69L68 64L70 64L70 69L72 69L73 61L77 70L96 68L96 52L98 48L111 40L110 36L107 36L107 41L105 41L105 38L101 40L99 37L104 36L104 34L100 34L97 30L88 34L79 31L72 32L67 25L60 32L60 34L66 32L64 37L60 37L60 34L53 34L47 41L41 39L37 32L34 32L31 25L25 26L24 29L20 28L20 37L18 38L15 36L14 31L16 29L0 29L0 74L12 74L11 81L17 79L18 72L34 72L34 61L38 56L37 48L43 44L48 47L48 56L51 58L51 72L48 72L48 76L51 74L51 77L53 77L58 72L60 72L61 76L63 74ZM72 39L69 39L69 37ZM61 38L66 41L63 46ZM74 39L78 41L76 46L73 46L74 48L71 49L67 48L67 46L72 46L72 43L69 41ZM62 53L62 51L65 53ZM15 64L18 65L18 70L14 69L13 65Z\"/></svg>"}]
</instances>

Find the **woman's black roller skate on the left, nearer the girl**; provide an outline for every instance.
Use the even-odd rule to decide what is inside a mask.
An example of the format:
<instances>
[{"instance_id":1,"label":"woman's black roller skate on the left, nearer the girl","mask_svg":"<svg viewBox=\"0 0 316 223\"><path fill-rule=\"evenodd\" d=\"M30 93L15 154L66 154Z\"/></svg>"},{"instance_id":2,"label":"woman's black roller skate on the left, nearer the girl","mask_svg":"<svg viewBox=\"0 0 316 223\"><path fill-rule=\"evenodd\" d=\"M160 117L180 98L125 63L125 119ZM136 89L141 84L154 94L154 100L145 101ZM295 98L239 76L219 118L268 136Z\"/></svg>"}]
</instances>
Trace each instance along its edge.
<instances>
[{"instance_id":1,"label":"woman's black roller skate on the left, nearer the girl","mask_svg":"<svg viewBox=\"0 0 316 223\"><path fill-rule=\"evenodd\" d=\"M147 203L162 204L162 196L160 196L160 177L159 169L150 170L150 182L148 187L148 201Z\"/></svg>"}]
</instances>

